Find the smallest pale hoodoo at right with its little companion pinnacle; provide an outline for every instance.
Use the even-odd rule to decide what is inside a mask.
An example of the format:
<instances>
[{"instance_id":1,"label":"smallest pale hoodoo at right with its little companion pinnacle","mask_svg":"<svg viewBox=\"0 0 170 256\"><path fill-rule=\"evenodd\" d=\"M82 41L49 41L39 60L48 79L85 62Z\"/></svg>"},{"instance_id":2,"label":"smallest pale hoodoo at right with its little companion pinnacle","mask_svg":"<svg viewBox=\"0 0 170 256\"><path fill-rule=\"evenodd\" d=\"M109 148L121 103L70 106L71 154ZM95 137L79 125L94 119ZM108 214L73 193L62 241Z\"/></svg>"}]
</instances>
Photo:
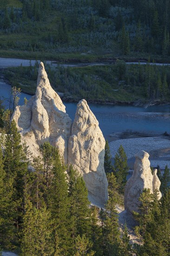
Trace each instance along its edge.
<instances>
[{"instance_id":1,"label":"smallest pale hoodoo at right with its little companion pinnacle","mask_svg":"<svg viewBox=\"0 0 170 256\"><path fill-rule=\"evenodd\" d=\"M149 154L141 150L136 155L136 161L134 164L134 172L131 178L127 181L124 192L124 209L139 212L140 202L138 200L143 189L150 189L150 193L153 193L155 189L159 189L161 182L157 177L157 170L154 170L152 175L150 169ZM161 198L161 192L159 191L159 199Z\"/></svg>"}]
</instances>

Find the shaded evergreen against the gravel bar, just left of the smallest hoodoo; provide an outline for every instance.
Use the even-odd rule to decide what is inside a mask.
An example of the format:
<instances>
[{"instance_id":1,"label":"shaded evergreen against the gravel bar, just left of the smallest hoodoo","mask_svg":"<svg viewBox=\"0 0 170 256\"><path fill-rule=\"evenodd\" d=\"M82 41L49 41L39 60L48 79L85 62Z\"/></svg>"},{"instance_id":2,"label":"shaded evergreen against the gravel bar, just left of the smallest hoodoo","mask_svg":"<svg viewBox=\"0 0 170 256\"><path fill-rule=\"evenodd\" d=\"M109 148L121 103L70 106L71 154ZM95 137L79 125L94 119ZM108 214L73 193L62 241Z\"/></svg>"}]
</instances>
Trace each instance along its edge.
<instances>
[{"instance_id":1,"label":"shaded evergreen against the gravel bar, just left of the smallest hoodoo","mask_svg":"<svg viewBox=\"0 0 170 256\"><path fill-rule=\"evenodd\" d=\"M114 157L114 173L119 185L119 192L124 193L124 186L126 184L126 176L128 173L127 156L122 145L118 148L118 152Z\"/></svg>"}]
</instances>

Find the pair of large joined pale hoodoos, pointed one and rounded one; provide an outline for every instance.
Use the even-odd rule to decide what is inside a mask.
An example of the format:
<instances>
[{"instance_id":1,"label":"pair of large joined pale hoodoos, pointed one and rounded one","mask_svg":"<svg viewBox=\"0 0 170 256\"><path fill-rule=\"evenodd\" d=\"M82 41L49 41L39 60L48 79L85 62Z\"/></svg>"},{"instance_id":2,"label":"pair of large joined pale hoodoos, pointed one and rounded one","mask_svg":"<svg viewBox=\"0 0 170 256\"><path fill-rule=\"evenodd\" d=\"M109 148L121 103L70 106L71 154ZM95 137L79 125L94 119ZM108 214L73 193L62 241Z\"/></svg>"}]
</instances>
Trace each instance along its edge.
<instances>
[{"instance_id":1,"label":"pair of large joined pale hoodoos, pointed one and rounded one","mask_svg":"<svg viewBox=\"0 0 170 256\"><path fill-rule=\"evenodd\" d=\"M44 64L39 64L36 94L27 105L17 106L13 113L22 141L33 156L39 145L49 141L84 177L89 199L101 204L107 201L107 179L104 170L105 139L98 121L85 100L78 102L75 120L65 113L65 106L52 89Z\"/></svg>"}]
</instances>

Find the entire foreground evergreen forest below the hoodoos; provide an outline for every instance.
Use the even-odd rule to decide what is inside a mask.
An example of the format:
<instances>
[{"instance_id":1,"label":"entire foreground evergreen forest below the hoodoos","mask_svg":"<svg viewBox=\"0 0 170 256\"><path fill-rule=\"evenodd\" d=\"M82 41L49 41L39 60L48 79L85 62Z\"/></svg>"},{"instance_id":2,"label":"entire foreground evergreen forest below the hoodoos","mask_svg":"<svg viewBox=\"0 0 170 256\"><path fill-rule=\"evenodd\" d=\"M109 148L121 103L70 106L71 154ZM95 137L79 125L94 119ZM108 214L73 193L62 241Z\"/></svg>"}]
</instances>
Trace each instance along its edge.
<instances>
[{"instance_id":1,"label":"entire foreground evergreen forest below the hoodoos","mask_svg":"<svg viewBox=\"0 0 170 256\"><path fill-rule=\"evenodd\" d=\"M72 165L65 173L67 166L56 148L45 142L39 147L41 156L31 163L15 122L6 129L7 136L0 136L0 250L17 250L21 256L169 255L170 189L164 189L161 202L157 191L151 195L144 189L141 214L134 213L142 245L132 246L126 225L119 229L116 205L121 196L113 172L107 174L105 210L89 207L83 178ZM122 147L119 156L125 160ZM168 172L166 168L163 184Z\"/></svg>"}]
</instances>

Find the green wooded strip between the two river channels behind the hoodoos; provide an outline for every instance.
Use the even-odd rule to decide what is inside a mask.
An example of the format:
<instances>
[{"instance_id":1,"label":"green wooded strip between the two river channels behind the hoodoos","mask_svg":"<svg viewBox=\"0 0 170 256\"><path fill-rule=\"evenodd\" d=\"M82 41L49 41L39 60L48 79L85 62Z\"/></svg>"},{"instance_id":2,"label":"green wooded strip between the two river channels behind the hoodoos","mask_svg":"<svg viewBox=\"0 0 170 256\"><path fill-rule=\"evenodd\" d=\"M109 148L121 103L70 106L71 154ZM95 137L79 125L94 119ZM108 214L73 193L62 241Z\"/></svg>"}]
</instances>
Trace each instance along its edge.
<instances>
[{"instance_id":1,"label":"green wooded strip between the two river channels behind the hoodoos","mask_svg":"<svg viewBox=\"0 0 170 256\"><path fill-rule=\"evenodd\" d=\"M64 99L93 102L169 101L170 67L128 65L124 61L106 66L52 67L46 65L52 88L64 93ZM11 67L3 75L12 86L35 94L38 62L29 67Z\"/></svg>"}]
</instances>

